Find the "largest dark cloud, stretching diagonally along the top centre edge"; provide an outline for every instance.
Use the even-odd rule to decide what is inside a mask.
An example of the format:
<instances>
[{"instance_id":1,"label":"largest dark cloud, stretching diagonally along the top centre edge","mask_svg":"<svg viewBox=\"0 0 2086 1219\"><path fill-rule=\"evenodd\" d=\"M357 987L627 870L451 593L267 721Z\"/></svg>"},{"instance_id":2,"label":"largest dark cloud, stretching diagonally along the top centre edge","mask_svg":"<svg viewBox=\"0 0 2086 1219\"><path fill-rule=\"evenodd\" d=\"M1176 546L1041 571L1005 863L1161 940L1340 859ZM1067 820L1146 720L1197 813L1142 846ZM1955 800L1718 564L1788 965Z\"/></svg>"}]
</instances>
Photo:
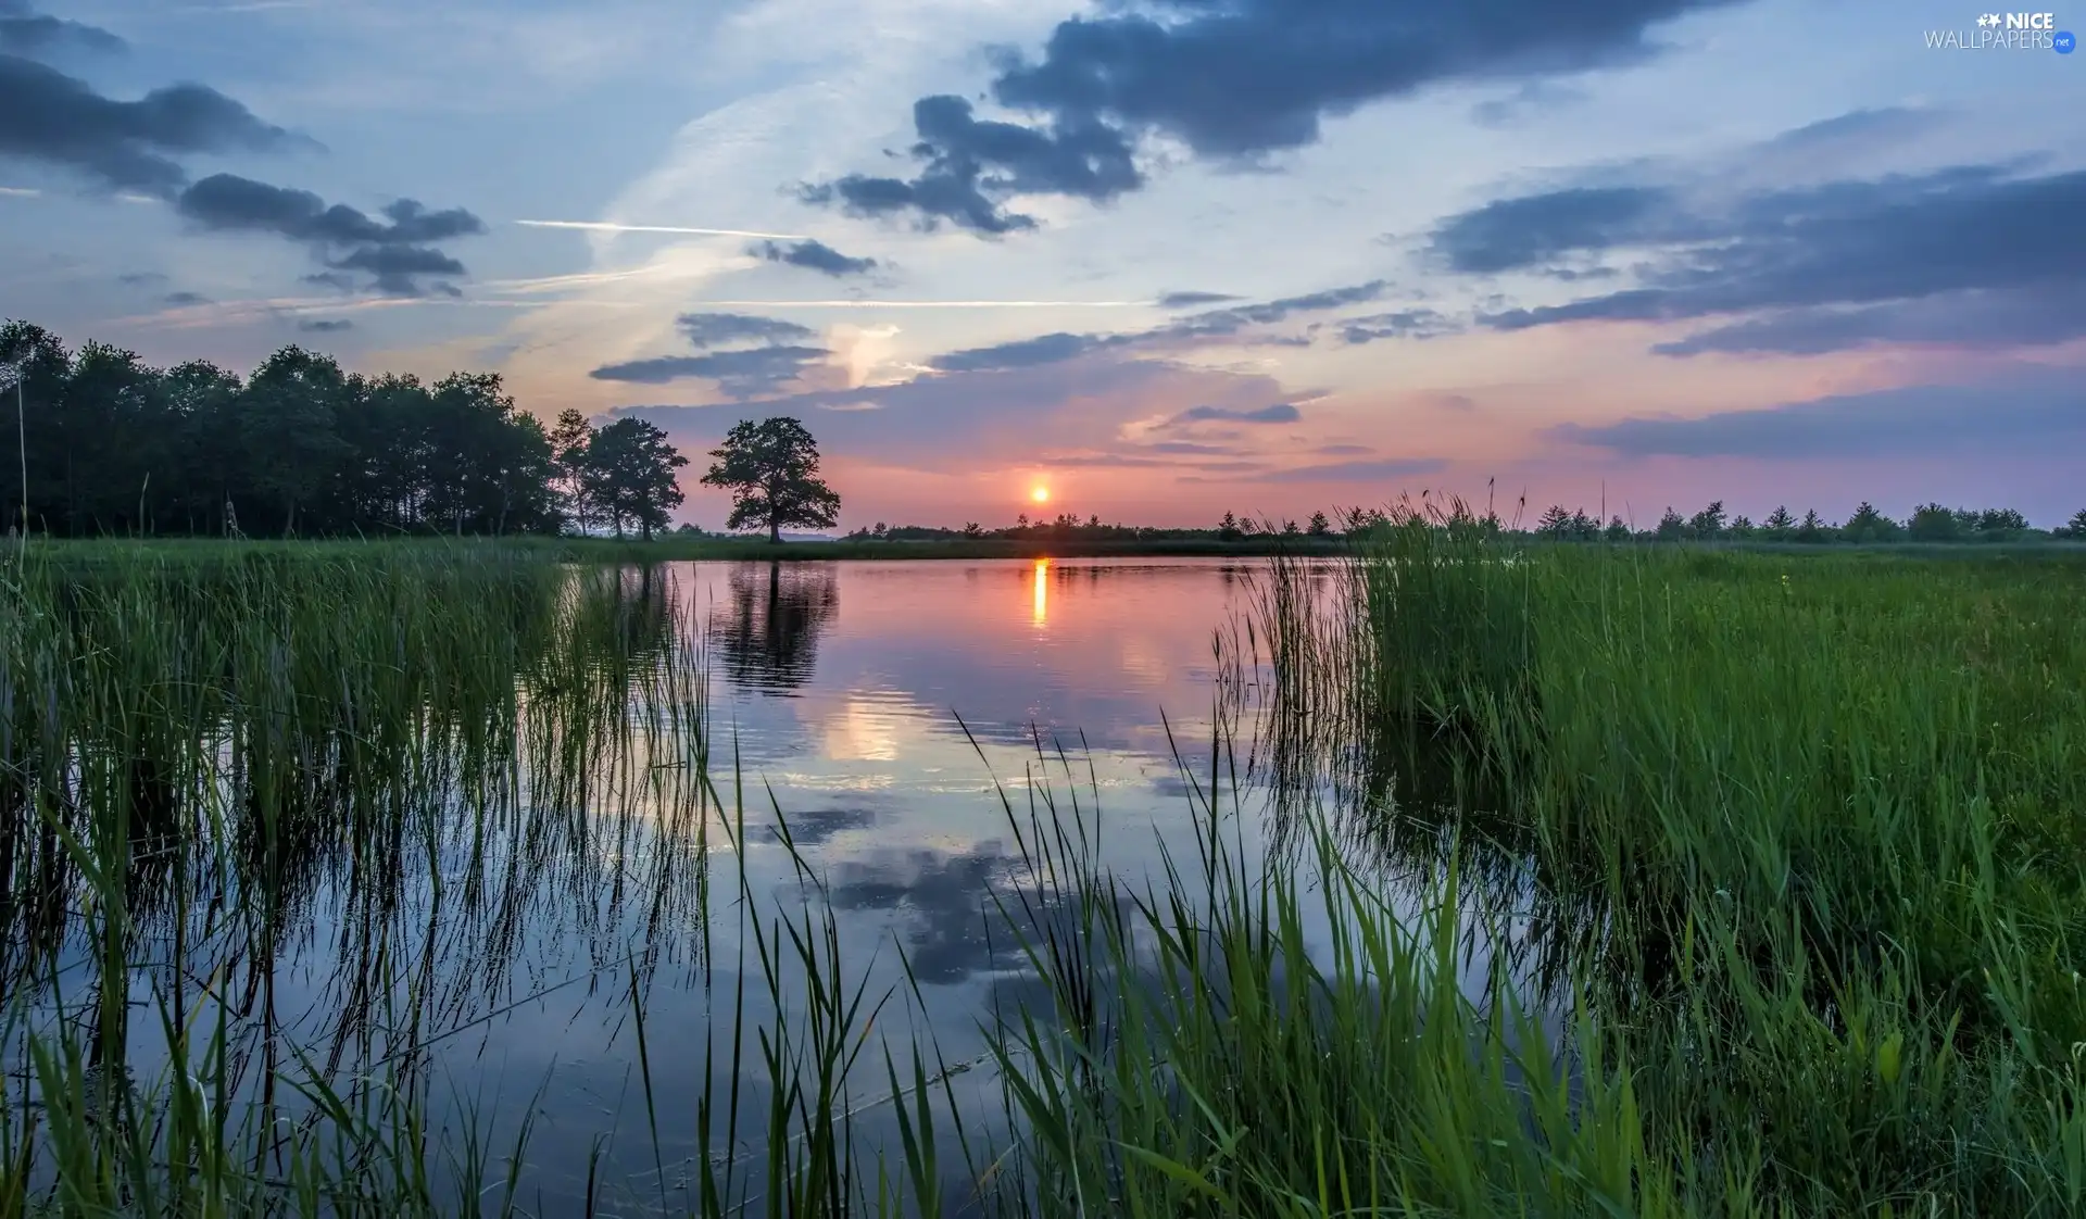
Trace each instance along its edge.
<instances>
[{"instance_id":1,"label":"largest dark cloud, stretching diagonally along the top centre edge","mask_svg":"<svg viewBox=\"0 0 2086 1219\"><path fill-rule=\"evenodd\" d=\"M1037 125L914 104L918 177L807 188L855 213L983 234L1035 228L1016 194L1108 200L1143 186L1133 150L1164 134L1243 161L1314 144L1320 121L1460 79L1533 79L1650 56L1658 21L1733 0L1158 0L1062 21L1041 58L999 54L991 96Z\"/></svg>"}]
</instances>

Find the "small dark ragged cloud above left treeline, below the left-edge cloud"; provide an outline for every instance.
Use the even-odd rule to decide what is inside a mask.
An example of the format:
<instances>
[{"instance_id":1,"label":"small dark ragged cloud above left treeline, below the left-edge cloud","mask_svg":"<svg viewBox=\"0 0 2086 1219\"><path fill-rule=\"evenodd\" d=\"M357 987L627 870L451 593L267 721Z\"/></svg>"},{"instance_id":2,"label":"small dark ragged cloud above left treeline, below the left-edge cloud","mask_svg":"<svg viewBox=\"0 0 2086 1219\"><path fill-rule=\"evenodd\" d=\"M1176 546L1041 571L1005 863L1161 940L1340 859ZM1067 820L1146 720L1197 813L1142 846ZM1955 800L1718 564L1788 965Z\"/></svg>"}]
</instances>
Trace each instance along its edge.
<instances>
[{"instance_id":1,"label":"small dark ragged cloud above left treeline, below the left-edge cloud","mask_svg":"<svg viewBox=\"0 0 2086 1219\"><path fill-rule=\"evenodd\" d=\"M175 198L175 211L204 230L263 232L302 242L334 271L361 271L386 296L419 296L430 276L457 278L463 263L430 242L486 232L482 219L461 207L428 211L413 198L382 209L382 219L344 202L328 205L309 190L269 186L234 173L213 173ZM342 253L336 253L342 250ZM334 278L353 284L346 278ZM457 294L451 284L438 292Z\"/></svg>"}]
</instances>

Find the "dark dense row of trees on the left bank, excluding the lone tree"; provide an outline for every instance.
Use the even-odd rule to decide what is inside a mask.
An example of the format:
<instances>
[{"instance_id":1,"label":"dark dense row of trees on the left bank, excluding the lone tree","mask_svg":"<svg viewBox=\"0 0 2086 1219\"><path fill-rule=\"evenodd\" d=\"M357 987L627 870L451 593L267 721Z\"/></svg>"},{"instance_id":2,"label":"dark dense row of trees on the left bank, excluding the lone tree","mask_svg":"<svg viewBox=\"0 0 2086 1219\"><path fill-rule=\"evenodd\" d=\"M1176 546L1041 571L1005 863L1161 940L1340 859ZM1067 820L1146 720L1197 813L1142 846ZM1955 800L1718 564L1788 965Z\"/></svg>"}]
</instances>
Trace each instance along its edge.
<instances>
[{"instance_id":1,"label":"dark dense row of trees on the left bank, excluding the lone tree","mask_svg":"<svg viewBox=\"0 0 2086 1219\"><path fill-rule=\"evenodd\" d=\"M592 428L565 411L551 432L496 374L371 378L300 346L246 378L209 361L159 369L102 342L67 351L27 321L0 326L0 365L15 372L0 382L19 382L23 438L21 453L0 443L0 513L10 528L27 516L42 534L547 534L599 524L649 536L682 501L674 470L686 459L659 428ZM15 407L10 386L0 415Z\"/></svg>"}]
</instances>

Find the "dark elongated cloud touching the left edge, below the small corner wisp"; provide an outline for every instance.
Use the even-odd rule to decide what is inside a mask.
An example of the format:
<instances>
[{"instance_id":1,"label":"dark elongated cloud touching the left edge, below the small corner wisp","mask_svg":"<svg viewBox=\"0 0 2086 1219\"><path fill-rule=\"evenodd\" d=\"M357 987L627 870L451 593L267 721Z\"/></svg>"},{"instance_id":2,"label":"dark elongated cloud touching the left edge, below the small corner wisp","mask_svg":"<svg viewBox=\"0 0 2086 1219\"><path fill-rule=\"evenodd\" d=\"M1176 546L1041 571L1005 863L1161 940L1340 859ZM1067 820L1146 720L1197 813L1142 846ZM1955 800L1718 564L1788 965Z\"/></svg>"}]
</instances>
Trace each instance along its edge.
<instances>
[{"instance_id":1,"label":"dark elongated cloud touching the left edge, below the small corner wisp","mask_svg":"<svg viewBox=\"0 0 2086 1219\"><path fill-rule=\"evenodd\" d=\"M217 90L179 83L119 102L86 81L0 54L0 157L81 173L115 190L171 196L188 182L181 152L271 150L292 144Z\"/></svg>"}]
</instances>

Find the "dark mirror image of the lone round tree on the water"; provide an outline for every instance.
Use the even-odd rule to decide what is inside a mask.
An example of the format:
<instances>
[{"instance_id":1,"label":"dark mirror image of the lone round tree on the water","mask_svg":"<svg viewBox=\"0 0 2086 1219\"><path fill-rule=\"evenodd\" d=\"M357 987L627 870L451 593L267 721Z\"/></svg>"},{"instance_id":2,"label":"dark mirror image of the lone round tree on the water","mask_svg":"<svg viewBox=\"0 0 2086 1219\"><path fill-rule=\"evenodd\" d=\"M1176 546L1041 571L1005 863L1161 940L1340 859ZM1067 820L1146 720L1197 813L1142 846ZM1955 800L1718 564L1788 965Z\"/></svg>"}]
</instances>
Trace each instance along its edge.
<instances>
[{"instance_id":1,"label":"dark mirror image of the lone round tree on the water","mask_svg":"<svg viewBox=\"0 0 2086 1219\"><path fill-rule=\"evenodd\" d=\"M818 641L839 614L834 564L734 564L709 637L728 680L786 693L818 668Z\"/></svg>"}]
</instances>

